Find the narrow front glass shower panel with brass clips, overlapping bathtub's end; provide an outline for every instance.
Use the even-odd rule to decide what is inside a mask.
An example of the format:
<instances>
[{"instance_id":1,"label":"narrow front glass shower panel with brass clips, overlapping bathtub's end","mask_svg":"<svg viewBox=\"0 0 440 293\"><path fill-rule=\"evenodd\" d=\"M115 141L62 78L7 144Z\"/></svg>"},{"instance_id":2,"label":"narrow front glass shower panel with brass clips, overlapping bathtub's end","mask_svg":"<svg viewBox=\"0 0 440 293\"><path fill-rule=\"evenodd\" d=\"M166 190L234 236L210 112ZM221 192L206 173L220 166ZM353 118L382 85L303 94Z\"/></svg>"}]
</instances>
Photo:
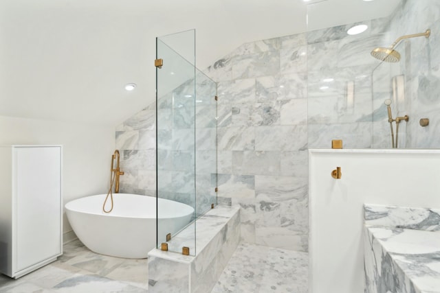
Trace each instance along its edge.
<instances>
[{"instance_id":1,"label":"narrow front glass shower panel with brass clips, overlapping bathtub's end","mask_svg":"<svg viewBox=\"0 0 440 293\"><path fill-rule=\"evenodd\" d=\"M163 60L156 67L157 248L164 244L176 253L189 248L190 255L195 255L197 211L194 52L194 30L156 38L156 58Z\"/></svg>"}]
</instances>

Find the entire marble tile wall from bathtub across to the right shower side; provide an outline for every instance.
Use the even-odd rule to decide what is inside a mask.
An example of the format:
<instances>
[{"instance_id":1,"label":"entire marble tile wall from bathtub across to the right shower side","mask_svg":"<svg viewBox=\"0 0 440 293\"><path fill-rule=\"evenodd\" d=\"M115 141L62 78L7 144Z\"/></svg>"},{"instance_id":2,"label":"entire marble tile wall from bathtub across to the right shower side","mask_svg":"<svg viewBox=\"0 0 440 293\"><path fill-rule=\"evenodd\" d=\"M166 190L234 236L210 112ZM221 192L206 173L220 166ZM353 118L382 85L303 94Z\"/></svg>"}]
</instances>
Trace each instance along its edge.
<instances>
[{"instance_id":1,"label":"entire marble tile wall from bathtub across to the right shower side","mask_svg":"<svg viewBox=\"0 0 440 293\"><path fill-rule=\"evenodd\" d=\"M406 98L405 108L392 104L393 116L410 115L408 124L401 124L399 145L439 148L434 113L440 108L440 99L435 98L440 84L440 55L435 50L440 45L440 2L404 0L390 17L366 23L369 29L357 36L347 35L351 24L245 43L214 62L204 73L217 82L217 130L210 120L214 112L201 107L212 100L201 99L196 112L208 126L195 133L199 149L194 156L181 149L191 138L186 129L169 132L159 127L164 142L160 145L165 148L160 156L177 162L181 172L195 167L204 178L197 190L211 193L217 181L219 199L241 206L245 242L307 251L307 150L330 148L332 139L342 139L344 148L391 148L384 100L392 96L395 75L406 74ZM399 45L404 50L399 47L402 60L397 65L371 57L373 48L428 27L429 39ZM173 102L172 94L169 98L158 105L159 121L185 124L184 113L181 119L169 116L176 110L173 103L181 99ZM124 192L155 194L154 107L137 113L116 132L124 154ZM418 124L422 117L431 119L427 128ZM214 140L217 152L208 143ZM203 163L214 155L217 175L212 164ZM179 190L170 192L170 198L193 185L182 174L173 177L159 169L168 187L174 184Z\"/></svg>"}]
</instances>

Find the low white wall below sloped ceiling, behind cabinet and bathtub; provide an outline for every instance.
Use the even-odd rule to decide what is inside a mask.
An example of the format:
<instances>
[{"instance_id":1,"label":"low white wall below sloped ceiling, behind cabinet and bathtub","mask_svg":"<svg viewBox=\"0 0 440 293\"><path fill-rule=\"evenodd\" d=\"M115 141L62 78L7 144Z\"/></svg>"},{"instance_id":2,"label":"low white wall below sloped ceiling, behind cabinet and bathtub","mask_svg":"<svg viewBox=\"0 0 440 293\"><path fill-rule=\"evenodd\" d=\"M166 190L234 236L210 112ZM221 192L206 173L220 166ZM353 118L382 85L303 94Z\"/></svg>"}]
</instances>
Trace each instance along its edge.
<instances>
[{"instance_id":1,"label":"low white wall below sloped ceiling, behind cabinet and bathtub","mask_svg":"<svg viewBox=\"0 0 440 293\"><path fill-rule=\"evenodd\" d=\"M115 128L0 116L0 145L63 145L63 201L107 192ZM64 213L63 232L72 231Z\"/></svg>"}]
</instances>

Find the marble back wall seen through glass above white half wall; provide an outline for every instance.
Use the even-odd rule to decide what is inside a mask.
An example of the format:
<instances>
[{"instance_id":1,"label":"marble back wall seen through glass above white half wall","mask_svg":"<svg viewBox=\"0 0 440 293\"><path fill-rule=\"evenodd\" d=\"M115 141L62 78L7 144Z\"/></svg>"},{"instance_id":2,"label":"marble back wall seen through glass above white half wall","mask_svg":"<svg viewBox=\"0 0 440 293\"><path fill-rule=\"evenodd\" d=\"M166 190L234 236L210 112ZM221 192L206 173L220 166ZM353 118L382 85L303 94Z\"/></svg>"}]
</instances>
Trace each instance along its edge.
<instances>
[{"instance_id":1,"label":"marble back wall seen through glass above white half wall","mask_svg":"<svg viewBox=\"0 0 440 293\"><path fill-rule=\"evenodd\" d=\"M386 36L389 20L362 23L368 30L355 36L347 34L353 23L307 34L309 148L331 148L332 139L342 139L344 148L371 148L377 112L371 72L380 61L370 52Z\"/></svg>"}]
</instances>

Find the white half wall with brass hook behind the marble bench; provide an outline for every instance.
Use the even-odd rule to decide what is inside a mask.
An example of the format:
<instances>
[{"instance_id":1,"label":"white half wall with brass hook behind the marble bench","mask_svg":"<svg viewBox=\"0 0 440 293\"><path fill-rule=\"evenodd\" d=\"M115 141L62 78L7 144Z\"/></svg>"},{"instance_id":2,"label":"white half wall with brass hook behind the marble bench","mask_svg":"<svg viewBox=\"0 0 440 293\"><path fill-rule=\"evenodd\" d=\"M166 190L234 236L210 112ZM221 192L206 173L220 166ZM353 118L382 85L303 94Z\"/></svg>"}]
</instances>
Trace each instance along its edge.
<instances>
[{"instance_id":1,"label":"white half wall with brass hook behind the marble bench","mask_svg":"<svg viewBox=\"0 0 440 293\"><path fill-rule=\"evenodd\" d=\"M309 150L309 292L364 292L363 204L439 208L439 178L440 150Z\"/></svg>"}]
</instances>

